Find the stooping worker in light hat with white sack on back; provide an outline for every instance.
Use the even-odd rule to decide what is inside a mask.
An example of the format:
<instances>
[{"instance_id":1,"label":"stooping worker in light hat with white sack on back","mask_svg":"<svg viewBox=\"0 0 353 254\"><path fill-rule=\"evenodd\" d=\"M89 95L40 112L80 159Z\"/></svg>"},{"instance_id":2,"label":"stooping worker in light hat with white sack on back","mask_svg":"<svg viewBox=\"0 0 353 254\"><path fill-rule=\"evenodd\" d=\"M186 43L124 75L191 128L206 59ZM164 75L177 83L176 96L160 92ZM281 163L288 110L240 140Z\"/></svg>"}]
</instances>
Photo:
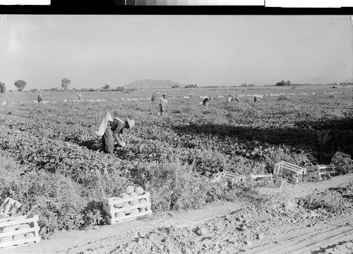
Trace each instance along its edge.
<instances>
[{"instance_id":1,"label":"stooping worker in light hat with white sack on back","mask_svg":"<svg viewBox=\"0 0 353 254\"><path fill-rule=\"evenodd\" d=\"M127 118L126 121L120 118L112 118L112 115L107 111L98 129L99 136L102 136L102 150L105 153L113 153L114 139L118 142L119 146L126 146L123 138L123 129L132 129L135 125L135 120Z\"/></svg>"}]
</instances>

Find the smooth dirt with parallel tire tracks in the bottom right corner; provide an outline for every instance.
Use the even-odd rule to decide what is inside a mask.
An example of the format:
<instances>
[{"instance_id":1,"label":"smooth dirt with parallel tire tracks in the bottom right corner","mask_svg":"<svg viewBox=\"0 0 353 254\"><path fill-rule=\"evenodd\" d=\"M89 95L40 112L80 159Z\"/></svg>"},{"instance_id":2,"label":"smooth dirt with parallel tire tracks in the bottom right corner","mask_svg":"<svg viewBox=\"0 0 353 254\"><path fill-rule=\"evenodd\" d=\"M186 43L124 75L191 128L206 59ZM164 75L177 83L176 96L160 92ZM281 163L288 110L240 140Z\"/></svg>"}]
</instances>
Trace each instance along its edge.
<instances>
[{"instance_id":1,"label":"smooth dirt with parallel tire tracks in the bottom right corner","mask_svg":"<svg viewBox=\"0 0 353 254\"><path fill-rule=\"evenodd\" d=\"M267 243L249 249L248 253L256 254L302 254L311 253L318 248L328 247L334 243L353 240L353 217L339 219L335 224L321 224L316 227L297 229L278 243ZM304 231L304 233L303 233Z\"/></svg>"}]
</instances>

